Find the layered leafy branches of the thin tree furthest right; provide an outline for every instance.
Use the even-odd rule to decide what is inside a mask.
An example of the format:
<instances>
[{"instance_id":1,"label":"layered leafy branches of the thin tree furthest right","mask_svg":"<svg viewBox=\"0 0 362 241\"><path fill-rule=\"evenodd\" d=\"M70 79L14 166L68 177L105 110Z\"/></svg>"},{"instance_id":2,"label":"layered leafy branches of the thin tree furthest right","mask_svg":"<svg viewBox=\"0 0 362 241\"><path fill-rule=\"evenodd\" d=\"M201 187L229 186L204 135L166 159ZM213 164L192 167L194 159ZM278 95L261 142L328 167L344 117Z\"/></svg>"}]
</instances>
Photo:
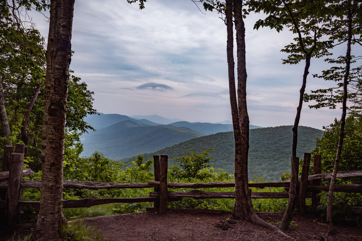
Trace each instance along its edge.
<instances>
[{"instance_id":1,"label":"layered leafy branches of the thin tree furthest right","mask_svg":"<svg viewBox=\"0 0 362 241\"><path fill-rule=\"evenodd\" d=\"M329 40L333 41L335 45L347 42L349 35L349 25L351 29L351 45L362 45L362 7L361 1L332 1L327 7L329 11L329 18L325 20L321 26ZM350 23L349 23L350 19ZM356 51L357 53L357 51ZM362 83L362 67L359 60L361 56L354 56L353 51L350 59L345 56L337 58L327 58L325 62L332 66L322 71L321 74L314 74L314 77L321 78L327 81L336 83L333 87L327 89L317 89L312 91L312 94L305 95L307 101L313 101L310 108L323 108L328 107L331 109L336 108L337 104L342 103L343 96L343 79L347 71L346 63L350 61L348 66L348 101L352 103L348 109L361 110L361 83Z\"/></svg>"}]
</instances>

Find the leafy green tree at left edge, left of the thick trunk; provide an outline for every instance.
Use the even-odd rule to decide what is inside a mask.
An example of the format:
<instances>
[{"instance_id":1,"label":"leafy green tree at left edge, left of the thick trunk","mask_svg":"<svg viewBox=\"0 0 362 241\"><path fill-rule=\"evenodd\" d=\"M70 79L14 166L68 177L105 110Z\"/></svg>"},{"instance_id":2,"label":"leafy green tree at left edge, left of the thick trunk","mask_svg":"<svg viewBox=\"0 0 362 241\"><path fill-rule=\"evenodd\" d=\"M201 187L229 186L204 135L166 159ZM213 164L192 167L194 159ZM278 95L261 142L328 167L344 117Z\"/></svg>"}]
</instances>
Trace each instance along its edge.
<instances>
[{"instance_id":1,"label":"leafy green tree at left edge, left of the thick trunk","mask_svg":"<svg viewBox=\"0 0 362 241\"><path fill-rule=\"evenodd\" d=\"M39 76L45 63L44 38L31 21L22 18L19 9L25 10L26 16L31 8L41 11L46 7L45 1L37 0L2 1L0 4L0 119L4 143L12 144L16 139L13 132L20 129L19 119L28 120L34 104L25 105L31 103L29 96L36 99L39 88L34 95L29 90L42 81ZM12 114L10 119L9 113ZM23 129L24 132L25 127Z\"/></svg>"}]
</instances>

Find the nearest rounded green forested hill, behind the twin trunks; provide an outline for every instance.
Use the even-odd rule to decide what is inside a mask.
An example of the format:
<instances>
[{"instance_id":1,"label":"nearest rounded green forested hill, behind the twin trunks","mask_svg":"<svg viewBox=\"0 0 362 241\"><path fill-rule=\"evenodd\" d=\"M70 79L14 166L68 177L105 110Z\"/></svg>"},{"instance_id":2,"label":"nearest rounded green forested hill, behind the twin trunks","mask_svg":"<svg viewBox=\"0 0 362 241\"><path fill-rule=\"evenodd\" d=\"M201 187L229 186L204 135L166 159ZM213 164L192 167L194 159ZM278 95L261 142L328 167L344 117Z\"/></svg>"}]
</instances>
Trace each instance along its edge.
<instances>
[{"instance_id":1,"label":"nearest rounded green forested hill, behind the twin trunks","mask_svg":"<svg viewBox=\"0 0 362 241\"><path fill-rule=\"evenodd\" d=\"M323 131L306 126L298 128L297 154L303 158L304 152L311 152L315 147L316 138L323 136ZM261 175L265 180L279 181L283 172L290 170L290 156L292 143L292 126L277 126L250 130L250 147L248 170L249 178L253 174ZM213 158L210 163L215 169L223 168L233 173L234 168L234 139L232 132L222 132L191 139L162 150L144 154L145 159L153 155L165 154L169 156L169 164L174 164L172 158L182 156L186 152L197 153L215 146L210 151ZM139 152L142 153L142 152ZM130 165L135 157L125 158L121 161Z\"/></svg>"}]
</instances>

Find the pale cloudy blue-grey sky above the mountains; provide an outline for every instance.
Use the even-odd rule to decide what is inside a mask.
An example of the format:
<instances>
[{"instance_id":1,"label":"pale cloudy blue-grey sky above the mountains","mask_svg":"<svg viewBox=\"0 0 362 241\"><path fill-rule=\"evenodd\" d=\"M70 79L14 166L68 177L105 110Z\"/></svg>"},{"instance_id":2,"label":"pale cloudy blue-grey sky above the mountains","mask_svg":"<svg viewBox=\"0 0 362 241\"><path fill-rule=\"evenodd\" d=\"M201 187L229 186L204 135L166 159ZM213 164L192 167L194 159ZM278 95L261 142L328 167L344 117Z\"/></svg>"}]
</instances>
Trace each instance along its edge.
<instances>
[{"instance_id":1,"label":"pale cloudy blue-grey sky above the mountains","mask_svg":"<svg viewBox=\"0 0 362 241\"><path fill-rule=\"evenodd\" d=\"M201 10L191 0L150 0L143 10L126 0L76 0L70 68L94 91L94 108L190 122L231 120L226 26L217 13ZM32 14L46 37L49 23ZM253 30L263 17L251 14L245 19L250 124L293 125L304 63L282 64L287 55L280 50L295 35ZM343 54L344 48L340 45L336 52ZM361 53L361 48L355 51ZM323 60L312 59L307 92L331 85L312 77L327 67ZM340 119L341 109L307 105L300 125L322 129Z\"/></svg>"}]
</instances>

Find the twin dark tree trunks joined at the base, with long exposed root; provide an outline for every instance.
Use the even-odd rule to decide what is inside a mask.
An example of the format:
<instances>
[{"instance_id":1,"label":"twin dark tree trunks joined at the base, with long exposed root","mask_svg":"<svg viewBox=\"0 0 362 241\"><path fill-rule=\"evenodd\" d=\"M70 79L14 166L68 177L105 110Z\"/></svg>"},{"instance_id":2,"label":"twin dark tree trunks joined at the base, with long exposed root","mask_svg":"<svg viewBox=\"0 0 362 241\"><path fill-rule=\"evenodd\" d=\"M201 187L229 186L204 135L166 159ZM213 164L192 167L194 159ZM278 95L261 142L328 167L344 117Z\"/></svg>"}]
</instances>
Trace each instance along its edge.
<instances>
[{"instance_id":1,"label":"twin dark tree trunks joined at the base, with long exposed root","mask_svg":"<svg viewBox=\"0 0 362 241\"><path fill-rule=\"evenodd\" d=\"M234 2L233 5L232 2ZM237 48L237 102L235 94L234 61L232 54L232 7L235 16ZM251 201L251 191L248 186L249 115L246 99L247 71L245 57L245 25L242 7L243 0L226 1L227 59L229 70L230 104L235 139L235 209L232 215L235 219L249 220L256 225L277 231L278 233L289 237L279 228L261 220L255 214L253 203Z\"/></svg>"}]
</instances>

